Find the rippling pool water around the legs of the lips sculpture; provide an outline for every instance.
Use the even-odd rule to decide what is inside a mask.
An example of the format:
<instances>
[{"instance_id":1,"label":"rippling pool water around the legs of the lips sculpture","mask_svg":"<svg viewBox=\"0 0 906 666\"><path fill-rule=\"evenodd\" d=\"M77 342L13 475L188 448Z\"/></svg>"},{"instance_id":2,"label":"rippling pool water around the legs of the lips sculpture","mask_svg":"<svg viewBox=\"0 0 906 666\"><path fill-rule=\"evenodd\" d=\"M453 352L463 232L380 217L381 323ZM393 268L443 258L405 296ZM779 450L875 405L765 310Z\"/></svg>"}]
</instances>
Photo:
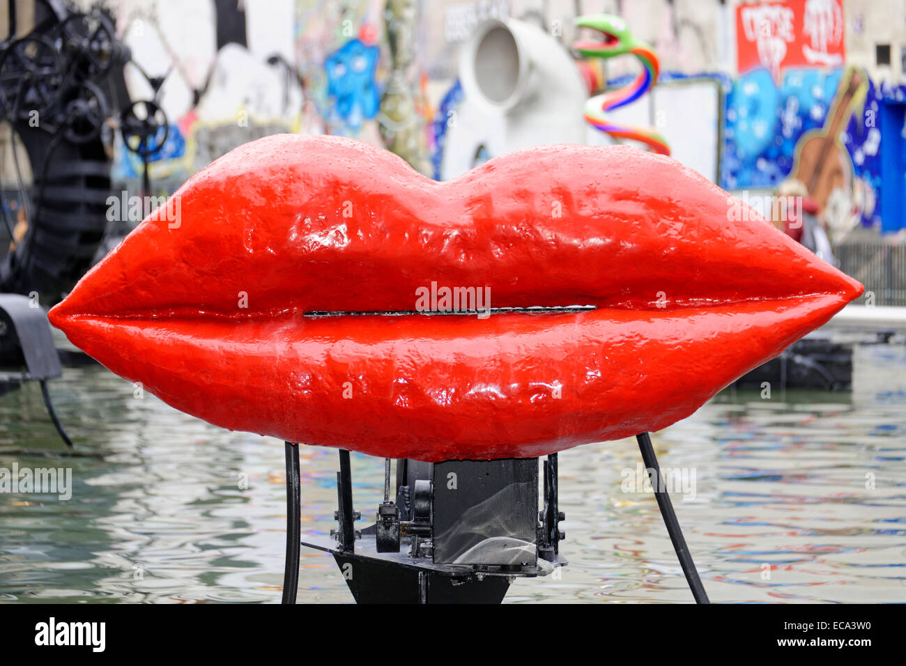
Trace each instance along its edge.
<instances>
[{"instance_id":1,"label":"rippling pool water around the legs of the lips sculpture","mask_svg":"<svg viewBox=\"0 0 906 666\"><path fill-rule=\"evenodd\" d=\"M0 602L279 602L282 442L136 398L101 367L67 369L51 390L77 457L53 455L36 385L0 397L0 468L73 479L65 502L0 494ZM685 475L687 492L670 489L712 601L906 602L902 346L858 347L852 393L726 391L653 440ZM323 534L336 452L301 453L303 530ZM561 453L570 565L517 580L506 602L691 601L654 497L624 492L638 461L634 439ZM382 470L353 454L363 516ZM299 601L352 602L330 555L303 551Z\"/></svg>"}]
</instances>

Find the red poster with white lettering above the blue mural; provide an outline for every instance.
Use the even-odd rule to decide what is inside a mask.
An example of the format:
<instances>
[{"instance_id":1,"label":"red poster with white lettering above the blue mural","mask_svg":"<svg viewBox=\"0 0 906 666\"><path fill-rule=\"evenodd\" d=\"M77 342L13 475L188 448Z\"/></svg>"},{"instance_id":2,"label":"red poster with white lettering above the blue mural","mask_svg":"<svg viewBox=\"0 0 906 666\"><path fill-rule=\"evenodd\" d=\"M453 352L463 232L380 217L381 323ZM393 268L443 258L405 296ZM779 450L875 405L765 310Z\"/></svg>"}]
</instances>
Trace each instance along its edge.
<instances>
[{"instance_id":1,"label":"red poster with white lettering above the blue mural","mask_svg":"<svg viewBox=\"0 0 906 666\"><path fill-rule=\"evenodd\" d=\"M843 0L784 0L737 6L739 73L766 67L841 67Z\"/></svg>"}]
</instances>

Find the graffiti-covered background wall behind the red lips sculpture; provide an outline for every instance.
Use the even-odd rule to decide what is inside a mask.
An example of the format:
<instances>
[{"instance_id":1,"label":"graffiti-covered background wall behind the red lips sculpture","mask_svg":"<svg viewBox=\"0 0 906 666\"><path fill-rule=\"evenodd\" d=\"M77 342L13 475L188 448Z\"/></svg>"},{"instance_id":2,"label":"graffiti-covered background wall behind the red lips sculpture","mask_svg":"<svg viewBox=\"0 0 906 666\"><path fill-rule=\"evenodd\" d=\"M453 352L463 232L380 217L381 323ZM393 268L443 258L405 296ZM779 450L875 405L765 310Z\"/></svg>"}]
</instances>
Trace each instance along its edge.
<instances>
[{"instance_id":1,"label":"graffiti-covered background wall behind the red lips sculpture","mask_svg":"<svg viewBox=\"0 0 906 666\"><path fill-rule=\"evenodd\" d=\"M454 160L457 166L449 167L449 137L496 137L470 163L508 150L506 138L497 136L503 125L470 109L458 80L459 50L477 25L518 18L553 35L565 52L575 15L604 10L622 11L661 55L660 85L619 110L621 121L655 126L677 159L723 188L767 191L803 179L820 194L835 232L904 225L890 198L906 189L902 173L899 180L890 175L902 168L882 156L902 150L898 114L906 91L872 78L877 72L846 65L853 43L864 42L861 14L853 9L858 0L651 0L645 6L126 0L116 6L118 30L137 62L152 77L165 77L158 99L169 116L169 137L149 169L161 188L171 190L227 150L275 131L351 136L397 152L434 178L455 176L470 164ZM863 53L853 57L864 60ZM631 58L576 67L590 92L623 85L636 72ZM133 98L153 94L140 72L130 73L129 85ZM529 102L519 112L531 115L533 108ZM584 140L609 138L589 130ZM138 179L141 160L121 148L115 176Z\"/></svg>"}]
</instances>

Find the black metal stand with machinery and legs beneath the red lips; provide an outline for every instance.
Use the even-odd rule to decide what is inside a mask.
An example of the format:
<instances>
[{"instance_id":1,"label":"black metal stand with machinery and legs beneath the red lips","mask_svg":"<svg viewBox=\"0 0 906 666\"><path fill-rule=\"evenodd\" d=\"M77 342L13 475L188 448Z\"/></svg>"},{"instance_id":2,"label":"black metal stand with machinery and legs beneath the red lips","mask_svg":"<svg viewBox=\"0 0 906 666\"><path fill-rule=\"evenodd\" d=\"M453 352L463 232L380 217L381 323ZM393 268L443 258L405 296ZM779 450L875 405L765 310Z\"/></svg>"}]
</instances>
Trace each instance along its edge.
<instances>
[{"instance_id":1,"label":"black metal stand with machinery and legs beneath the red lips","mask_svg":"<svg viewBox=\"0 0 906 666\"><path fill-rule=\"evenodd\" d=\"M638 436L661 515L697 603L709 603L663 484L647 432ZM286 449L286 561L283 603L295 603L300 545L298 445ZM374 525L356 530L349 451L337 472L339 529L302 545L331 553L358 603L500 603L517 577L567 565L558 507L557 454L544 461L538 512L538 459L396 461L396 500L390 500L390 459L384 461L384 500ZM408 541L408 548L402 547Z\"/></svg>"}]
</instances>

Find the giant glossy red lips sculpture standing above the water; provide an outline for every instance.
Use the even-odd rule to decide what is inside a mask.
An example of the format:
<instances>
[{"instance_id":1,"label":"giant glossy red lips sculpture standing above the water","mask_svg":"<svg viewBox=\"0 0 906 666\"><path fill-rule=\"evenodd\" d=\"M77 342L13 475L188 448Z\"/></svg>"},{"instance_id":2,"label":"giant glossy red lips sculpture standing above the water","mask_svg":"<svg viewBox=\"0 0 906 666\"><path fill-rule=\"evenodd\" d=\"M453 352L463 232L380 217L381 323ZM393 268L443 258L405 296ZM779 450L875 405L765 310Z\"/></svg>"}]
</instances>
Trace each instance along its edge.
<instances>
[{"instance_id":1,"label":"giant glossy red lips sculpture standing above the water","mask_svg":"<svg viewBox=\"0 0 906 666\"><path fill-rule=\"evenodd\" d=\"M50 316L218 426L438 461L659 430L862 292L641 150L547 146L439 183L280 135L199 171ZM455 297L471 312L422 312Z\"/></svg>"}]
</instances>

